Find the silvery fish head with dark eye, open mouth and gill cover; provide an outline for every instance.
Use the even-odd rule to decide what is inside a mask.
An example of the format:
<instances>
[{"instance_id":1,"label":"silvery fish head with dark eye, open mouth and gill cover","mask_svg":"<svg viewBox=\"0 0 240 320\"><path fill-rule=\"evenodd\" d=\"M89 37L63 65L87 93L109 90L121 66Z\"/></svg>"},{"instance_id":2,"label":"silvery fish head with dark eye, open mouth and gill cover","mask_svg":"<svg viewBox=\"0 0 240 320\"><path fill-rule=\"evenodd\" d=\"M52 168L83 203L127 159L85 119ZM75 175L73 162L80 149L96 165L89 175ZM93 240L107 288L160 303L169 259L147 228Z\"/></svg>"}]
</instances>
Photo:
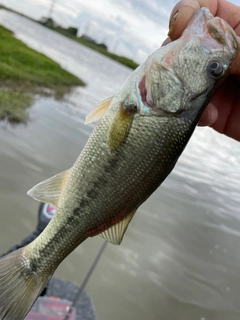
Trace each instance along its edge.
<instances>
[{"instance_id":1,"label":"silvery fish head with dark eye, open mouth and gill cover","mask_svg":"<svg viewBox=\"0 0 240 320\"><path fill-rule=\"evenodd\" d=\"M199 9L182 36L155 51L140 69L140 113L178 115L191 109L199 118L239 49L233 29L207 8Z\"/></svg>"}]
</instances>

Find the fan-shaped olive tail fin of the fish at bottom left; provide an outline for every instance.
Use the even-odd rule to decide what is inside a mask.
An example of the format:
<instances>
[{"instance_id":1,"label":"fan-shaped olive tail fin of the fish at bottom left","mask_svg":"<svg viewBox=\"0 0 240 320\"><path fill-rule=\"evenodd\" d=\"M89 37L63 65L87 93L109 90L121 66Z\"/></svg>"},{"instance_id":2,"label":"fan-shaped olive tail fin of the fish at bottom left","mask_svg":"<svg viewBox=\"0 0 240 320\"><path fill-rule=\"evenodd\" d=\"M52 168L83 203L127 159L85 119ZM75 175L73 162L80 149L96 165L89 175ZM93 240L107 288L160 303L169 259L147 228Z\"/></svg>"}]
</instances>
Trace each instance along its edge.
<instances>
[{"instance_id":1,"label":"fan-shaped olive tail fin of the fish at bottom left","mask_svg":"<svg viewBox=\"0 0 240 320\"><path fill-rule=\"evenodd\" d=\"M49 279L32 270L23 250L0 259L0 320L24 319Z\"/></svg>"}]
</instances>

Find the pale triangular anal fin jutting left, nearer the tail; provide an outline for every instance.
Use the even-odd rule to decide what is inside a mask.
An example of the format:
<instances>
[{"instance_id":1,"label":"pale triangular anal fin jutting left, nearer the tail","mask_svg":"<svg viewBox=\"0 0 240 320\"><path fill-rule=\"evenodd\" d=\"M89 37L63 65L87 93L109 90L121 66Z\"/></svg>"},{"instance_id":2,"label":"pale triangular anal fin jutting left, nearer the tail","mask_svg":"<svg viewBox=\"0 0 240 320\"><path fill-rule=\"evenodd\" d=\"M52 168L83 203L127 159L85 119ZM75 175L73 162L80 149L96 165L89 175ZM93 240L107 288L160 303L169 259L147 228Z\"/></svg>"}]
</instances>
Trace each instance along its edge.
<instances>
[{"instance_id":1,"label":"pale triangular anal fin jutting left, nearer the tail","mask_svg":"<svg viewBox=\"0 0 240 320\"><path fill-rule=\"evenodd\" d=\"M50 203L57 207L70 170L71 169L61 172L47 180L38 183L32 189L30 189L27 194L33 197L35 200Z\"/></svg>"}]
</instances>

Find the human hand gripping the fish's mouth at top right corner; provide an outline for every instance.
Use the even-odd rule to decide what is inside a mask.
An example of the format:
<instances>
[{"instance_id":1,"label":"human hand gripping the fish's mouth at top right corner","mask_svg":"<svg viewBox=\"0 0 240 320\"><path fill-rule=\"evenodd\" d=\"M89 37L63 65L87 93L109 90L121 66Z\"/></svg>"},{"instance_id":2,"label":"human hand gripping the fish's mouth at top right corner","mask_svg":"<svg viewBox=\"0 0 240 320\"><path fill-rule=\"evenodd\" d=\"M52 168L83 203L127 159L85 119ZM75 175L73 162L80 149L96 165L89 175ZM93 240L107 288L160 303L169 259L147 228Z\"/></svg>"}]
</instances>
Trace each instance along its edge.
<instances>
[{"instance_id":1,"label":"human hand gripping the fish's mouth at top right corner","mask_svg":"<svg viewBox=\"0 0 240 320\"><path fill-rule=\"evenodd\" d=\"M172 10L169 38L164 44L179 38L194 12L201 7L207 7L213 16L224 19L240 36L240 6L225 0L182 0ZM199 125L211 126L240 141L240 54L232 63L230 75L205 109Z\"/></svg>"}]
</instances>

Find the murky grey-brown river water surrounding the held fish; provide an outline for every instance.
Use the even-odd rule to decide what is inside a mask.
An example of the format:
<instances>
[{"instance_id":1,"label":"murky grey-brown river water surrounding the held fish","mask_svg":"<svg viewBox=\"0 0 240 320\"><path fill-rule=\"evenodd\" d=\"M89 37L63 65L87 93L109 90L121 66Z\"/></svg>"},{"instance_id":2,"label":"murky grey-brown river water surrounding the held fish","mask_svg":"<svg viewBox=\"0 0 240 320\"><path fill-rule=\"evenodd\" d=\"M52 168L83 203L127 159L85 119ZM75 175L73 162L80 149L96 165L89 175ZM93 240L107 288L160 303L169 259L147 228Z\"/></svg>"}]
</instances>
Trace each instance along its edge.
<instances>
[{"instance_id":1,"label":"murky grey-brown river water surrounding the held fish","mask_svg":"<svg viewBox=\"0 0 240 320\"><path fill-rule=\"evenodd\" d=\"M3 252L35 227L38 204L26 191L73 164L93 128L84 117L131 70L15 14L0 11L0 21L88 83L67 102L37 100L27 126L0 124ZM198 128L92 276L87 291L99 320L239 320L239 181L240 144ZM87 240L56 276L80 284L101 244Z\"/></svg>"}]
</instances>

